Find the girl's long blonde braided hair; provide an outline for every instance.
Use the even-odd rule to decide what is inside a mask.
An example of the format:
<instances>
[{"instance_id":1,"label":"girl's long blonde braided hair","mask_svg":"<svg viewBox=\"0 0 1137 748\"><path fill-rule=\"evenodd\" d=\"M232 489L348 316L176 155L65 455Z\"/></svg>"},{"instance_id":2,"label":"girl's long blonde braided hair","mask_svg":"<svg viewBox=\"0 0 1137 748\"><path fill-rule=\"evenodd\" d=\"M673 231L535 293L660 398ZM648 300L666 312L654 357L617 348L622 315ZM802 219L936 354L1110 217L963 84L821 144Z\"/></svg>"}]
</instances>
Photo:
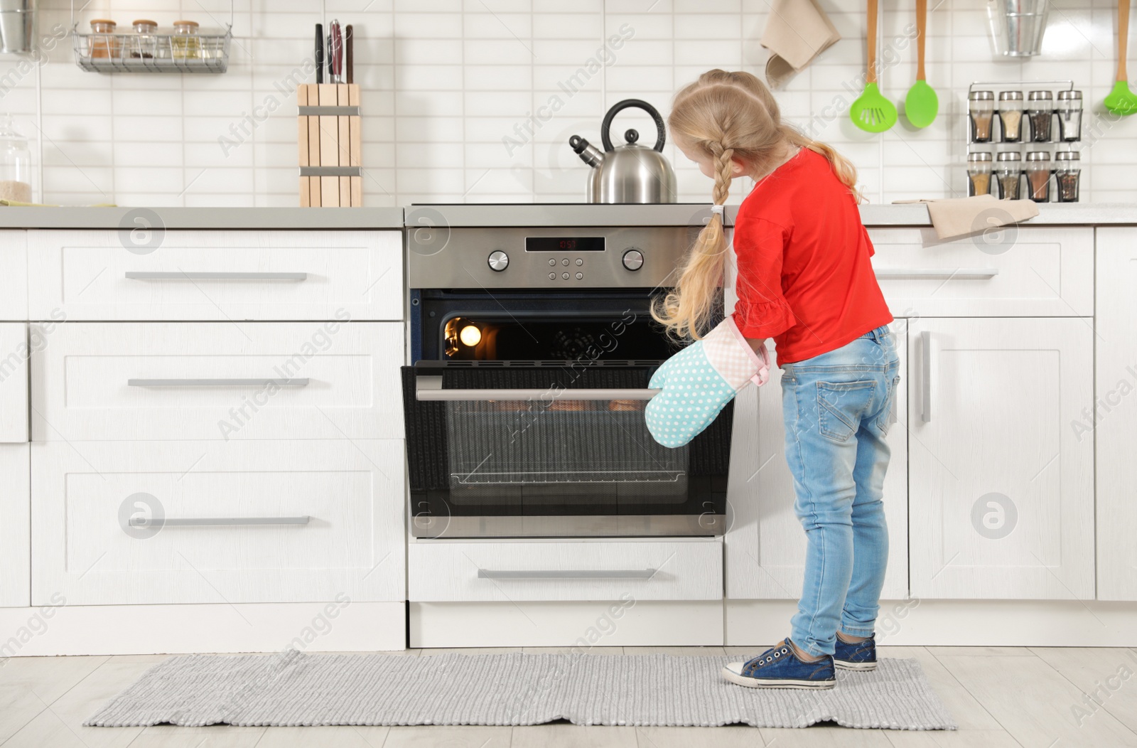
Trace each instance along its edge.
<instances>
[{"instance_id":1,"label":"girl's long blonde braided hair","mask_svg":"<svg viewBox=\"0 0 1137 748\"><path fill-rule=\"evenodd\" d=\"M758 173L770 171L785 146L808 148L829 161L833 174L861 202L856 168L832 147L808 138L781 120L778 102L756 76L707 70L675 94L667 126L672 139L714 161L715 205L727 202L733 159ZM652 305L652 316L673 338L699 340L719 300L725 267L727 239L722 217L712 214L687 256L674 289Z\"/></svg>"}]
</instances>

